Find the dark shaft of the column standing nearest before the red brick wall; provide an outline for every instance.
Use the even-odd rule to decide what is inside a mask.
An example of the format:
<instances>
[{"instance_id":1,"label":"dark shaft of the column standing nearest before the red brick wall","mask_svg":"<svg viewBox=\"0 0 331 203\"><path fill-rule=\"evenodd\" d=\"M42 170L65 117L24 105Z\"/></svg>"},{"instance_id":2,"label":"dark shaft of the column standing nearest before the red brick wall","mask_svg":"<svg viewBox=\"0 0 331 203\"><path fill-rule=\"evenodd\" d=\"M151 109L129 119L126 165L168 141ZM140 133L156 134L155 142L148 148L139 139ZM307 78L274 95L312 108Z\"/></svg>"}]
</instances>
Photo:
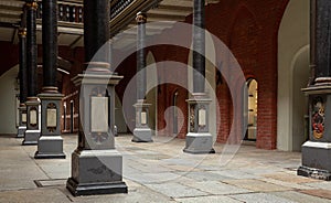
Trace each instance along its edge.
<instances>
[{"instance_id":1,"label":"dark shaft of the column standing nearest before the red brick wall","mask_svg":"<svg viewBox=\"0 0 331 203\"><path fill-rule=\"evenodd\" d=\"M204 93L205 76L205 11L204 0L194 0L193 11L193 92ZM197 53L200 52L200 53Z\"/></svg>"}]
</instances>

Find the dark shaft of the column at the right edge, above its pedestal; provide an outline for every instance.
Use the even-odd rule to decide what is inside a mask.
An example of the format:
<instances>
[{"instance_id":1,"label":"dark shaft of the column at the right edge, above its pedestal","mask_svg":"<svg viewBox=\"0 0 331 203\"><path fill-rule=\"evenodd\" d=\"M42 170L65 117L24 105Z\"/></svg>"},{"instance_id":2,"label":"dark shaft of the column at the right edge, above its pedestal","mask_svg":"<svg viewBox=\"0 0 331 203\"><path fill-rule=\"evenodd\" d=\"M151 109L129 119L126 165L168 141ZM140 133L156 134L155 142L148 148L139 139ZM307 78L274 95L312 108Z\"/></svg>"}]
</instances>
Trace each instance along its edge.
<instances>
[{"instance_id":1,"label":"dark shaft of the column at the right edge, above its pedestal","mask_svg":"<svg viewBox=\"0 0 331 203\"><path fill-rule=\"evenodd\" d=\"M331 76L331 1L316 0L316 39L312 41L313 57L316 61L316 76ZM313 8L312 8L313 9ZM314 32L312 32L314 35ZM313 44L316 42L316 44Z\"/></svg>"}]
</instances>

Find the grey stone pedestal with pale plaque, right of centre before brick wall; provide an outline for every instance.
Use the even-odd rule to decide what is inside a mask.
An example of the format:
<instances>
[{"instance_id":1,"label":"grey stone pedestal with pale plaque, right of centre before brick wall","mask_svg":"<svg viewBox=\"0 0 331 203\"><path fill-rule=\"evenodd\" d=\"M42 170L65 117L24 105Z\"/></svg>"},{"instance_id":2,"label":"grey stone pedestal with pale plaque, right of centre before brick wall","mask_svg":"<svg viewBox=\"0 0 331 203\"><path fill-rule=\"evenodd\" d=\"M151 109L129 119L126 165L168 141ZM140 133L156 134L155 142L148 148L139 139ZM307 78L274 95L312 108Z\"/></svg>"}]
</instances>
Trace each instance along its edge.
<instances>
[{"instance_id":1,"label":"grey stone pedestal with pale plaque, right of centre before brick wall","mask_svg":"<svg viewBox=\"0 0 331 203\"><path fill-rule=\"evenodd\" d=\"M209 106L212 100L205 94L193 94L189 103L189 133L184 152L215 153L213 136L209 129Z\"/></svg>"}]
</instances>

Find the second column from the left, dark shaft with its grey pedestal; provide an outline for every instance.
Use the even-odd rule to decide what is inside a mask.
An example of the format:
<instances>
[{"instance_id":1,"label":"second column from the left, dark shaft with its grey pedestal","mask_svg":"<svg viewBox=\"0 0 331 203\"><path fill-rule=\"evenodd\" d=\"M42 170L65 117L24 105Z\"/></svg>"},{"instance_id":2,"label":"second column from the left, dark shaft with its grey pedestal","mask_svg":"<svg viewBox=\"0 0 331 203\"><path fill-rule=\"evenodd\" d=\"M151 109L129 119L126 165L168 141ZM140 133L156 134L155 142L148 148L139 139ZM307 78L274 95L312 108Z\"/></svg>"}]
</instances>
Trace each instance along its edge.
<instances>
[{"instance_id":1,"label":"second column from the left, dark shaft with its grey pedestal","mask_svg":"<svg viewBox=\"0 0 331 203\"><path fill-rule=\"evenodd\" d=\"M40 137L38 87L38 46L36 46L36 8L34 0L26 0L26 66L28 66L28 98L26 98L26 131L22 145L36 145Z\"/></svg>"}]
</instances>

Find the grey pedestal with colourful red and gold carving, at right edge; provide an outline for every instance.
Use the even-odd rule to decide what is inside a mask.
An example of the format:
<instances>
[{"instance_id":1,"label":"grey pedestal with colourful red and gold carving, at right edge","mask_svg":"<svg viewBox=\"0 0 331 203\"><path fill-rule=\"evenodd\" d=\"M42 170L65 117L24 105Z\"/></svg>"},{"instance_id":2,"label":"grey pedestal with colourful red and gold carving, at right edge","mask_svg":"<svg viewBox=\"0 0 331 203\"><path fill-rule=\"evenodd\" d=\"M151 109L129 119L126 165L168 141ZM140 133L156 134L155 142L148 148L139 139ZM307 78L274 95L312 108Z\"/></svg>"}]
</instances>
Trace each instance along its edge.
<instances>
[{"instance_id":1,"label":"grey pedestal with colourful red and gold carving, at right edge","mask_svg":"<svg viewBox=\"0 0 331 203\"><path fill-rule=\"evenodd\" d=\"M302 145L302 165L298 174L331 180L331 86L302 89L309 96L309 140Z\"/></svg>"}]
</instances>

